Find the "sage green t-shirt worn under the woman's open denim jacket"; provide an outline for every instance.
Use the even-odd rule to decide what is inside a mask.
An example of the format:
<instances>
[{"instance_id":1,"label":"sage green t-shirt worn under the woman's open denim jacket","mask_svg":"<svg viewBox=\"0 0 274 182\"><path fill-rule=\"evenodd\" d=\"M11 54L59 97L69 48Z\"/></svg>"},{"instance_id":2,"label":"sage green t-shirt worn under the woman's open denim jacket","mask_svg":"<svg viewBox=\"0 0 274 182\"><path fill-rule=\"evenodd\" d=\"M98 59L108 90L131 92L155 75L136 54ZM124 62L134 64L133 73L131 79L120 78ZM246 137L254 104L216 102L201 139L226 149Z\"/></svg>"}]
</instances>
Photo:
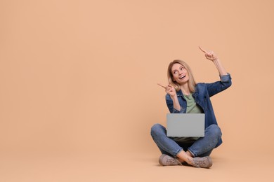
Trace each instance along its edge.
<instances>
[{"instance_id":1,"label":"sage green t-shirt worn under the woman's open denim jacket","mask_svg":"<svg viewBox=\"0 0 274 182\"><path fill-rule=\"evenodd\" d=\"M203 113L200 106L197 106L195 99L193 98L192 94L189 95L183 95L185 97L187 107L186 107L186 113ZM174 141L182 142L182 143L193 143L199 137L172 137Z\"/></svg>"}]
</instances>

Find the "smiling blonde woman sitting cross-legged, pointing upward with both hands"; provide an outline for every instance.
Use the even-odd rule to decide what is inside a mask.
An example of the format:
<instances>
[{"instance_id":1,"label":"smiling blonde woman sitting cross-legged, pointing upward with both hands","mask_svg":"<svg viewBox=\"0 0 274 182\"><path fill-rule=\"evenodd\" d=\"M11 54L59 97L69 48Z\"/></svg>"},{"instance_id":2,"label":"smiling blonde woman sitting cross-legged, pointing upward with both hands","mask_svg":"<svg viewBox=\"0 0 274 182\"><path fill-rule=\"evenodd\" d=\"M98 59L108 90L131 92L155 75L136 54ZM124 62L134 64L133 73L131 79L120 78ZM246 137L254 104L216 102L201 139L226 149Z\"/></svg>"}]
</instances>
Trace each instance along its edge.
<instances>
[{"instance_id":1,"label":"smiling blonde woman sitting cross-legged, pointing upward with both hands","mask_svg":"<svg viewBox=\"0 0 274 182\"><path fill-rule=\"evenodd\" d=\"M205 114L204 137L167 137L165 127L160 124L153 125L151 136L162 153L159 158L160 165L185 164L209 168L212 165L209 155L222 143L221 130L216 122L209 97L230 87L231 77L214 52L202 51L205 57L215 64L220 81L195 83L188 64L174 60L168 67L169 85L158 85L164 87L167 92L166 102L171 113Z\"/></svg>"}]
</instances>

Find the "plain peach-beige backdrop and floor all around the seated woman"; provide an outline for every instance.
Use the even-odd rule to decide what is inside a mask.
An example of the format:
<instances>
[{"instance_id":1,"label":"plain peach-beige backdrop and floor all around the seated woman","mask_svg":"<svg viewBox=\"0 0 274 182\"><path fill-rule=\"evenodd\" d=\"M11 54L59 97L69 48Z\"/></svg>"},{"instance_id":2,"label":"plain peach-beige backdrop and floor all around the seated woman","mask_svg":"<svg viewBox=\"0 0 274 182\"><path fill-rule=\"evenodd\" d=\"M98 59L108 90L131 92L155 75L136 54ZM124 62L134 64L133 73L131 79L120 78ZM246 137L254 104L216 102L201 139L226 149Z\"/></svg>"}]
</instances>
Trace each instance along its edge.
<instances>
[{"instance_id":1,"label":"plain peach-beige backdrop and floor all around the seated woman","mask_svg":"<svg viewBox=\"0 0 274 182\"><path fill-rule=\"evenodd\" d=\"M0 1L0 181L271 181L273 1ZM233 86L212 97L211 169L159 167L167 65ZM271 173L272 172L272 173Z\"/></svg>"}]
</instances>

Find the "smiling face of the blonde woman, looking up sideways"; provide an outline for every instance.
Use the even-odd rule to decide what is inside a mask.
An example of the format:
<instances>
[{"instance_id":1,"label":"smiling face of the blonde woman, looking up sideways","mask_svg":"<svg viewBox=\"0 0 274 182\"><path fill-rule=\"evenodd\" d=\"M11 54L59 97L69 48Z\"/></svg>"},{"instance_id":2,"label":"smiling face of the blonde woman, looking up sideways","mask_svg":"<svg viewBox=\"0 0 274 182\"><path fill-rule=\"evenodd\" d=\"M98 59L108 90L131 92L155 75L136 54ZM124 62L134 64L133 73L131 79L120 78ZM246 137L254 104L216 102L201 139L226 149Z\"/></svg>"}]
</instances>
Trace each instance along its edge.
<instances>
[{"instance_id":1,"label":"smiling face of the blonde woman, looking up sideways","mask_svg":"<svg viewBox=\"0 0 274 182\"><path fill-rule=\"evenodd\" d=\"M185 67L182 64L175 63L171 67L171 74L173 76L172 80L174 80L179 85L182 85L183 83L187 83L189 76L188 71L185 69Z\"/></svg>"}]
</instances>

